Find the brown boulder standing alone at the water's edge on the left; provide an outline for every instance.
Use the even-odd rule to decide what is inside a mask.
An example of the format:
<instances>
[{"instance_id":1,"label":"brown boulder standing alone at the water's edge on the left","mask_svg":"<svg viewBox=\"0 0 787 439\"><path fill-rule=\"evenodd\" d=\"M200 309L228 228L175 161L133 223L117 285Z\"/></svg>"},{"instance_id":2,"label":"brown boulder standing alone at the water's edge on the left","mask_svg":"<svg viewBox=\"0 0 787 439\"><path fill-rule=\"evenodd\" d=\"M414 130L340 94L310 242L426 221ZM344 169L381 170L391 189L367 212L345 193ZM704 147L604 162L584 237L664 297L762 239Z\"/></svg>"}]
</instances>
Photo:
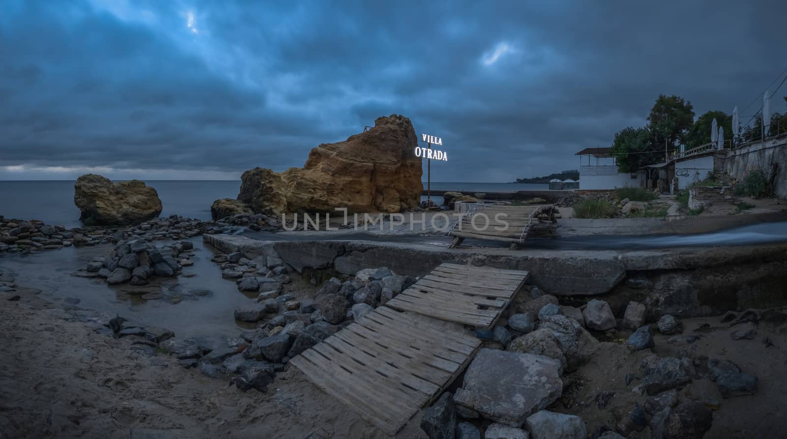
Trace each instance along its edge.
<instances>
[{"instance_id":1,"label":"brown boulder standing alone at the water's edge on the left","mask_svg":"<svg viewBox=\"0 0 787 439\"><path fill-rule=\"evenodd\" d=\"M156 190L144 182L113 183L95 174L76 179L74 204L88 225L141 223L157 217L162 208Z\"/></svg>"}]
</instances>

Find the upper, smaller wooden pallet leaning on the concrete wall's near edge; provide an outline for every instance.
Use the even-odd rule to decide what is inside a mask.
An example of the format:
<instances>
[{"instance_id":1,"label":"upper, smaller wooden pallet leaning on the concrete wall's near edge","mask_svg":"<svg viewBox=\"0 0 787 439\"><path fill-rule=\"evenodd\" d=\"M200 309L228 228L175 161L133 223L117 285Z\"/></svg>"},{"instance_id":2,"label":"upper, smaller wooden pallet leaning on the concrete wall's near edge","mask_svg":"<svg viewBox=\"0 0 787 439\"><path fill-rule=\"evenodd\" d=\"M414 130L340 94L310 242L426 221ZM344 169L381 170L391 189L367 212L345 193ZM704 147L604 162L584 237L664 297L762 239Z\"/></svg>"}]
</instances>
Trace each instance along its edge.
<instances>
[{"instance_id":1,"label":"upper, smaller wooden pallet leaning on the concrete wall's near edge","mask_svg":"<svg viewBox=\"0 0 787 439\"><path fill-rule=\"evenodd\" d=\"M519 270L440 264L386 306L489 329L529 275Z\"/></svg>"}]
</instances>

